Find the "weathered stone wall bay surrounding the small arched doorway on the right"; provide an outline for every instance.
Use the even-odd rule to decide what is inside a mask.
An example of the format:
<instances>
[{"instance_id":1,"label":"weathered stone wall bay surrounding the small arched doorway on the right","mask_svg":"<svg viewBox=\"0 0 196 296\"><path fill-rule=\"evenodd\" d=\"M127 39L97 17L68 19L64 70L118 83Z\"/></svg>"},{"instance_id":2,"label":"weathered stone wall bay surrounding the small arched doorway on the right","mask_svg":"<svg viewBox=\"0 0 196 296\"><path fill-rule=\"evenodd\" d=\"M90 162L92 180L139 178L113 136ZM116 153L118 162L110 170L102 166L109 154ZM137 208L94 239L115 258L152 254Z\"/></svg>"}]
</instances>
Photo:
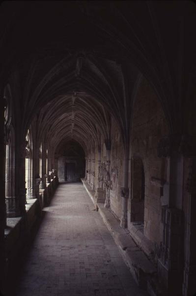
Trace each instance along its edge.
<instances>
[{"instance_id":1,"label":"weathered stone wall bay surrounding the small arched doorway on the right","mask_svg":"<svg viewBox=\"0 0 196 296\"><path fill-rule=\"evenodd\" d=\"M139 157L143 162L145 176L144 234L157 243L162 240L159 227L161 193L160 186L153 183L151 178L167 179L166 160L157 156L158 141L165 135L168 135L168 126L161 103L152 87L143 79L134 105L130 158ZM130 187L131 178L130 172ZM128 211L131 212L130 199Z\"/></svg>"}]
</instances>

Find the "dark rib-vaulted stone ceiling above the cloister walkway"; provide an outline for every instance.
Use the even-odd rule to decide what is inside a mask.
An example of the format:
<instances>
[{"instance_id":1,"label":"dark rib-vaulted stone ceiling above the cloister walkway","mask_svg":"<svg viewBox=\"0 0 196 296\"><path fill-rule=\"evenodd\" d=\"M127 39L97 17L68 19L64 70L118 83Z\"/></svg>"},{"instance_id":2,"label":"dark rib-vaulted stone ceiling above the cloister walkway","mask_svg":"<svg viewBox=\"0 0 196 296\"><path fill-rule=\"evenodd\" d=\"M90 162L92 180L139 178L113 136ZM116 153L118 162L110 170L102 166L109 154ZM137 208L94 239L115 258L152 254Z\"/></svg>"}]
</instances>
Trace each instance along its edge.
<instances>
[{"instance_id":1,"label":"dark rib-vaulted stone ceiling above the cloister walkway","mask_svg":"<svg viewBox=\"0 0 196 296\"><path fill-rule=\"evenodd\" d=\"M191 1L8 1L0 6L0 77L20 82L20 124L84 150L110 137L111 117L130 137L141 76L155 89L171 132L186 129L196 81ZM14 77L15 77L14 76ZM13 96L13 94L12 94Z\"/></svg>"}]
</instances>

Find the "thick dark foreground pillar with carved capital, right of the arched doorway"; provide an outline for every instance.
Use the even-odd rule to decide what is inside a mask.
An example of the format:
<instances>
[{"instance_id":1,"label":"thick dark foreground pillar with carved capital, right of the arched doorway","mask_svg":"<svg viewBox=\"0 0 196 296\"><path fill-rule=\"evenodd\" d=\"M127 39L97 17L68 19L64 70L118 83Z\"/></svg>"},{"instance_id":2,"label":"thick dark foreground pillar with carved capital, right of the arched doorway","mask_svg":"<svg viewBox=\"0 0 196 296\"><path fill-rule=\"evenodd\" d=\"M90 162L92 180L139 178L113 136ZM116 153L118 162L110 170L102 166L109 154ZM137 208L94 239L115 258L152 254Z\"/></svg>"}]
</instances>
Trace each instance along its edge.
<instances>
[{"instance_id":1,"label":"thick dark foreground pillar with carved capital, right of the arched doorway","mask_svg":"<svg viewBox=\"0 0 196 296\"><path fill-rule=\"evenodd\" d=\"M181 139L181 135L170 135L162 138L158 145L158 156L168 157L169 166L168 205L162 207L163 240L158 260L159 279L168 296L182 295L183 283L184 157Z\"/></svg>"}]
</instances>

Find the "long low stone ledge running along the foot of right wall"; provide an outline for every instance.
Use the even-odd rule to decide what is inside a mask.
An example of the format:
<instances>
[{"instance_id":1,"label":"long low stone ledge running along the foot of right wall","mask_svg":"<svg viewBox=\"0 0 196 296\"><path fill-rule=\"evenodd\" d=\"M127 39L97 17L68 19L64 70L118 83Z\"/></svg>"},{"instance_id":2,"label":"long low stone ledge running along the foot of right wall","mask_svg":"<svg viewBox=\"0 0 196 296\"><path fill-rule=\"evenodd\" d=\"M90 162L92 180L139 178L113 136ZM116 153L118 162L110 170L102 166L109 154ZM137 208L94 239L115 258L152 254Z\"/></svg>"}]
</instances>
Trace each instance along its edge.
<instances>
[{"instance_id":1,"label":"long low stone ledge running along the foot of right wall","mask_svg":"<svg viewBox=\"0 0 196 296\"><path fill-rule=\"evenodd\" d=\"M136 238L136 232L139 230L137 225L132 226L132 232L135 236L132 237L131 232L128 229L120 227L119 222L112 214L112 212L104 207L103 203L97 203L95 200L95 190L92 190L84 179L81 179L84 188L86 189L90 199L92 200L95 209L100 213L103 221L105 222L108 230L112 234L112 237L124 259L126 265L129 267L132 276L137 282L140 288L147 290L149 295L155 296L155 292L152 289L151 279L156 276L157 268L148 259L146 254L142 251L140 244L137 244L139 239ZM140 232L139 232L140 233ZM140 235L139 235L140 236ZM144 236L144 235L143 235ZM140 242L145 242L144 238L140 239ZM148 250L148 248L147 248ZM151 252L151 246L149 247ZM149 252L148 250L148 252Z\"/></svg>"}]
</instances>

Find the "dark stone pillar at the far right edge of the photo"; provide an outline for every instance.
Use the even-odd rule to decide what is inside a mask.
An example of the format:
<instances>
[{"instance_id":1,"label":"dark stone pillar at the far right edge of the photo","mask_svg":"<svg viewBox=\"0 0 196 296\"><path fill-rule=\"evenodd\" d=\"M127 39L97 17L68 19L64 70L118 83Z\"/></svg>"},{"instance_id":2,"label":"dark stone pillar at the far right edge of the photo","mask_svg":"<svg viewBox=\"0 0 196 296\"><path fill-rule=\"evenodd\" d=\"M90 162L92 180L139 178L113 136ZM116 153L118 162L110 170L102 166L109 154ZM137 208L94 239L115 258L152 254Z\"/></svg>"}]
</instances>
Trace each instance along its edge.
<instances>
[{"instance_id":1,"label":"dark stone pillar at the far right edge of the photo","mask_svg":"<svg viewBox=\"0 0 196 296\"><path fill-rule=\"evenodd\" d=\"M185 267L183 295L194 295L196 292L196 157L189 159L188 218L185 229Z\"/></svg>"}]
</instances>

